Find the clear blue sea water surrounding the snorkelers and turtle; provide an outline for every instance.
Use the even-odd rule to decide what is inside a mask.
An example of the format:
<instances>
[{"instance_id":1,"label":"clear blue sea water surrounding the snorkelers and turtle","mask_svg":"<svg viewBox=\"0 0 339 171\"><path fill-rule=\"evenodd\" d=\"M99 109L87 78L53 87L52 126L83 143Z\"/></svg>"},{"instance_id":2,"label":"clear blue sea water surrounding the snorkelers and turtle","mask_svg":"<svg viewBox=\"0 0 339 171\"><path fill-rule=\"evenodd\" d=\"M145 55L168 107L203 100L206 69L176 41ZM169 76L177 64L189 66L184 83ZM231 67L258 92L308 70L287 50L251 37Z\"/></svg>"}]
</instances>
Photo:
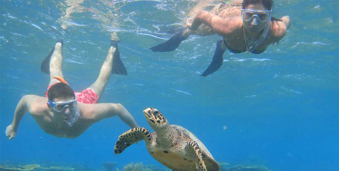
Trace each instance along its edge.
<instances>
[{"instance_id":1,"label":"clear blue sea water surrounding the snorkelers and turtle","mask_svg":"<svg viewBox=\"0 0 339 171\"><path fill-rule=\"evenodd\" d=\"M172 52L148 49L173 36L196 4L121 0L117 11L86 1L64 31L65 1L0 1L1 164L161 166L143 141L114 154L118 135L129 129L118 117L66 139L46 134L27 113L17 136L5 136L23 95L44 95L49 77L40 64L58 39L64 40L64 76L81 91L96 80L117 30L128 76L112 75L100 103L121 103L147 129L142 110L157 108L170 124L193 132L218 162L338 171L338 1L275 1L273 16L292 21L280 43L248 57L226 51L222 67L208 77L199 75L212 60L217 35L191 36Z\"/></svg>"}]
</instances>

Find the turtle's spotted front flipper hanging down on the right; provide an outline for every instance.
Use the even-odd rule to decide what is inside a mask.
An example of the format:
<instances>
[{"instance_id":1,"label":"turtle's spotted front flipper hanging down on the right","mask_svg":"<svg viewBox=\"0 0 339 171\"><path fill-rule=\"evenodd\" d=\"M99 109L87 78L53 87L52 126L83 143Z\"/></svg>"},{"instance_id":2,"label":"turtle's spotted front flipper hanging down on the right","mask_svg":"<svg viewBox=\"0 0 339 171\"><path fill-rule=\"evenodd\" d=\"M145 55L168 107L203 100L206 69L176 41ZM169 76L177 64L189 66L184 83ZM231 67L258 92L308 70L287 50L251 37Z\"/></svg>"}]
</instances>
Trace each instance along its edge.
<instances>
[{"instance_id":1,"label":"turtle's spotted front flipper hanging down on the right","mask_svg":"<svg viewBox=\"0 0 339 171\"><path fill-rule=\"evenodd\" d=\"M202 158L199 145L194 141L190 141L185 145L185 150L187 153L194 153L195 166L197 168L197 171L206 171L205 162Z\"/></svg>"}]
</instances>

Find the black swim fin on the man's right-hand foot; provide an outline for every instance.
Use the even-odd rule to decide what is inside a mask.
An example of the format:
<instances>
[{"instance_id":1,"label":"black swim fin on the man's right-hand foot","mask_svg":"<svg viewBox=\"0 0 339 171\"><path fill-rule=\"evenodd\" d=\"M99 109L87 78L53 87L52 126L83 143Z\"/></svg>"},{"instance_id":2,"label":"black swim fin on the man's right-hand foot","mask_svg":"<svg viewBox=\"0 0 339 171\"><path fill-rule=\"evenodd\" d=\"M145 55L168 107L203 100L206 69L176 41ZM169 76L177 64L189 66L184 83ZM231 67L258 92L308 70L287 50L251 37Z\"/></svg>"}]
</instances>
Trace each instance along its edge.
<instances>
[{"instance_id":1,"label":"black swim fin on the man's right-hand foot","mask_svg":"<svg viewBox=\"0 0 339 171\"><path fill-rule=\"evenodd\" d=\"M113 64L112 64L112 73L114 74L121 74L127 75L126 68L120 59L120 52L118 49L118 42L115 40L111 40L111 46L115 47L114 57L113 57Z\"/></svg>"}]
</instances>

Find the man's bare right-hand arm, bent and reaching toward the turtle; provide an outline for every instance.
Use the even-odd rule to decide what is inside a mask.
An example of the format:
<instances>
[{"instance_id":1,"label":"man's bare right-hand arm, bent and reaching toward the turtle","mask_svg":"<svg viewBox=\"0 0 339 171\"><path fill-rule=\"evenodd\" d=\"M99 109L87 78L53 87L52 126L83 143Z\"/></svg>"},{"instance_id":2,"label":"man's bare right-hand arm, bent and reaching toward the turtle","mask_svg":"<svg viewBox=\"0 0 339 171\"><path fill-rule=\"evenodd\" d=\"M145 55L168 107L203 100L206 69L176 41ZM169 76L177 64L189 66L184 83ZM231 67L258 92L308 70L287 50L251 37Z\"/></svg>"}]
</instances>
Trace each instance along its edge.
<instances>
[{"instance_id":1,"label":"man's bare right-hand arm, bent and reaching toward the turtle","mask_svg":"<svg viewBox=\"0 0 339 171\"><path fill-rule=\"evenodd\" d=\"M102 119L117 115L129 127L131 128L139 127L131 113L129 113L127 109L120 103L99 103L92 105L94 106L91 106L93 109L91 117L94 120L94 122L99 122Z\"/></svg>"}]
</instances>

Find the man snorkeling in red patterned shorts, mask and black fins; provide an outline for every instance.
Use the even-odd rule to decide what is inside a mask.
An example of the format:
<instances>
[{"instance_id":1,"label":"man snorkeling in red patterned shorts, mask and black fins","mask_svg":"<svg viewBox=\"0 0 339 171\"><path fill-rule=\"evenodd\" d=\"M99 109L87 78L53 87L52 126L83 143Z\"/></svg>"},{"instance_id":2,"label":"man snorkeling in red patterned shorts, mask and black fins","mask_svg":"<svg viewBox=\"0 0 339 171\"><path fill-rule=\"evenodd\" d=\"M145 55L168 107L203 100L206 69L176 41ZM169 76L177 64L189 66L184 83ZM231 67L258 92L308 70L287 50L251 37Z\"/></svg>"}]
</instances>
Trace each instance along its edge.
<instances>
[{"instance_id":1,"label":"man snorkeling in red patterned shorts, mask and black fins","mask_svg":"<svg viewBox=\"0 0 339 171\"><path fill-rule=\"evenodd\" d=\"M41 71L50 75L46 97L25 95L21 98L13 122L6 129L9 140L16 136L19 123L27 111L41 129L57 137L76 138L92 124L116 115L129 127L139 127L121 104L98 103L111 73L127 75L117 42L111 42L98 79L82 92L74 92L63 79L62 45L63 41L58 40L41 65Z\"/></svg>"}]
</instances>

